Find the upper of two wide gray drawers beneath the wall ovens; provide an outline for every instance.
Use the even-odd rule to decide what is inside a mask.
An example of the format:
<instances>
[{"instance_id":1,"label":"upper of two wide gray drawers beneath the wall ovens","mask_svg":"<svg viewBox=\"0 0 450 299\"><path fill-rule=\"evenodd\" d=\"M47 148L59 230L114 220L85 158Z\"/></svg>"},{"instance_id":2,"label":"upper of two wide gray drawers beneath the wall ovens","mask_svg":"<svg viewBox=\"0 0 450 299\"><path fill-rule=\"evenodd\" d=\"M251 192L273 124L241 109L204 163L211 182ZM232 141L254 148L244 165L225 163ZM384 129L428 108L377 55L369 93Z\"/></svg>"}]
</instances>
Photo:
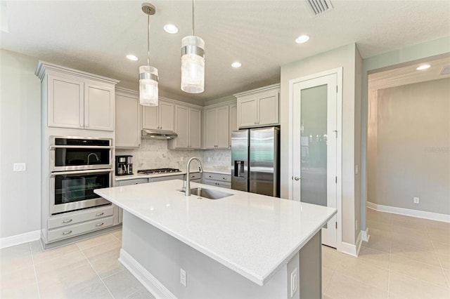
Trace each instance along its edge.
<instances>
[{"instance_id":1,"label":"upper of two wide gray drawers beneath the wall ovens","mask_svg":"<svg viewBox=\"0 0 450 299\"><path fill-rule=\"evenodd\" d=\"M60 215L58 217L49 219L49 230L56 227L65 227L68 225L74 225L79 222L103 218L113 215L113 213L113 206L106 206L104 208L95 208L91 210L75 212L71 213L70 215Z\"/></svg>"}]
</instances>

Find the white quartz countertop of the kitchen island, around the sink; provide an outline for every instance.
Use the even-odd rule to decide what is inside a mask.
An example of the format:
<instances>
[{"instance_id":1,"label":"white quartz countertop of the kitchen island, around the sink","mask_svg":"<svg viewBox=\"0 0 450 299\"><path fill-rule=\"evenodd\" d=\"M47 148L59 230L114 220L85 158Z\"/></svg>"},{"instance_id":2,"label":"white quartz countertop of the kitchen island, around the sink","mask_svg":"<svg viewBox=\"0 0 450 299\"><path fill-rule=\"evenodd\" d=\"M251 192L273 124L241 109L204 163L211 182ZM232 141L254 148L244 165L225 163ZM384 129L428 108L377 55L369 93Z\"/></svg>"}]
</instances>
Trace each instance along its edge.
<instances>
[{"instance_id":1,"label":"white quartz countertop of the kitchen island, around the sink","mask_svg":"<svg viewBox=\"0 0 450 299\"><path fill-rule=\"evenodd\" d=\"M181 180L94 190L125 211L259 285L288 263L336 213L335 208L191 183L232 193L185 197Z\"/></svg>"}]
</instances>

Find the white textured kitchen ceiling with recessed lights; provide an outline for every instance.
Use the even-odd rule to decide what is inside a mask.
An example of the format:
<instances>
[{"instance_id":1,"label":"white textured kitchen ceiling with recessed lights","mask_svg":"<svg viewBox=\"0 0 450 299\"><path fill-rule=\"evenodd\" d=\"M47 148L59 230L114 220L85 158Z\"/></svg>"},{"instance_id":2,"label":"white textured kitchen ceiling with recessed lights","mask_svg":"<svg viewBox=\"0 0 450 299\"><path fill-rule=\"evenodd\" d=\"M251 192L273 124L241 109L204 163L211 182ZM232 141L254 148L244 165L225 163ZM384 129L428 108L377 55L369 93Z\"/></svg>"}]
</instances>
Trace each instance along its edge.
<instances>
[{"instance_id":1,"label":"white textured kitchen ceiling with recessed lights","mask_svg":"<svg viewBox=\"0 0 450 299\"><path fill-rule=\"evenodd\" d=\"M191 34L191 1L150 1L150 65L160 95L201 102L280 79L289 62L356 43L363 58L450 35L450 1L342 1L311 15L304 1L195 1L195 35L206 44L205 92L180 90L181 39ZM137 90L146 65L143 1L1 1L1 48L121 80ZM162 26L171 22L178 34ZM309 34L306 44L295 44ZM134 53L140 60L124 58ZM233 69L231 62L242 63Z\"/></svg>"}]
</instances>

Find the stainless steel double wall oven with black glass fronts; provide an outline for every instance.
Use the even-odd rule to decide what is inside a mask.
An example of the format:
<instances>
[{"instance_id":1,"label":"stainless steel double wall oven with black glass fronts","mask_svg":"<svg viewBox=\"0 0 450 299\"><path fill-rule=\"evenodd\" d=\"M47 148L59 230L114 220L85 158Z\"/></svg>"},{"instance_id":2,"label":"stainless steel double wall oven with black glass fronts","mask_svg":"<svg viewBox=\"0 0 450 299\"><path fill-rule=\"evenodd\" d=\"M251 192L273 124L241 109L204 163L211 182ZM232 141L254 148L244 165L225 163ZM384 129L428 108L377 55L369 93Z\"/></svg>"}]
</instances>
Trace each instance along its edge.
<instances>
[{"instance_id":1,"label":"stainless steel double wall oven with black glass fronts","mask_svg":"<svg viewBox=\"0 0 450 299\"><path fill-rule=\"evenodd\" d=\"M50 164L52 215L110 204L94 189L112 185L112 139L51 136Z\"/></svg>"}]
</instances>

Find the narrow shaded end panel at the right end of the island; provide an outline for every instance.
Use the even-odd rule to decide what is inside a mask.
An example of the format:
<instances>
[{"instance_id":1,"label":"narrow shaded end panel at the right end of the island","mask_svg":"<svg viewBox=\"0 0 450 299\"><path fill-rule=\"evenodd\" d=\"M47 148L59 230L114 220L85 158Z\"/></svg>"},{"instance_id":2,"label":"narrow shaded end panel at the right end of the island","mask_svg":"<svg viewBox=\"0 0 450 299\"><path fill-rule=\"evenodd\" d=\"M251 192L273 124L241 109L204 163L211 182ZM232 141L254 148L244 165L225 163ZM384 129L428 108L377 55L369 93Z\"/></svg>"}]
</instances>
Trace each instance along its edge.
<instances>
[{"instance_id":1,"label":"narrow shaded end panel at the right end of the island","mask_svg":"<svg viewBox=\"0 0 450 299\"><path fill-rule=\"evenodd\" d=\"M300 249L300 298L322 298L321 231Z\"/></svg>"}]
</instances>

